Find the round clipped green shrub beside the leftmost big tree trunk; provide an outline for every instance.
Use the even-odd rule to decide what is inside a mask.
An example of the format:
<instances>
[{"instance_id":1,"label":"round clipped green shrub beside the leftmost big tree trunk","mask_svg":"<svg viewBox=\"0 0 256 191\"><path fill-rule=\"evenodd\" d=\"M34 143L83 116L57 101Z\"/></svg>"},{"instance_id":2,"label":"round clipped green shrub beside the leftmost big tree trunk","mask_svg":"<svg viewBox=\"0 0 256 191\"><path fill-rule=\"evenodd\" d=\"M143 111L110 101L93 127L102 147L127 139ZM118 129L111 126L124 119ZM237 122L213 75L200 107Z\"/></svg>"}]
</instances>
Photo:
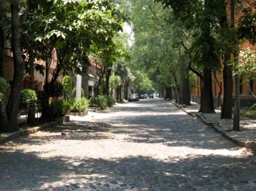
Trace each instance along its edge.
<instances>
[{"instance_id":1,"label":"round clipped green shrub beside the leftmost big tree trunk","mask_svg":"<svg viewBox=\"0 0 256 191\"><path fill-rule=\"evenodd\" d=\"M38 97L34 90L25 89L20 94L19 107L20 109L28 109L36 106Z\"/></svg>"}]
</instances>

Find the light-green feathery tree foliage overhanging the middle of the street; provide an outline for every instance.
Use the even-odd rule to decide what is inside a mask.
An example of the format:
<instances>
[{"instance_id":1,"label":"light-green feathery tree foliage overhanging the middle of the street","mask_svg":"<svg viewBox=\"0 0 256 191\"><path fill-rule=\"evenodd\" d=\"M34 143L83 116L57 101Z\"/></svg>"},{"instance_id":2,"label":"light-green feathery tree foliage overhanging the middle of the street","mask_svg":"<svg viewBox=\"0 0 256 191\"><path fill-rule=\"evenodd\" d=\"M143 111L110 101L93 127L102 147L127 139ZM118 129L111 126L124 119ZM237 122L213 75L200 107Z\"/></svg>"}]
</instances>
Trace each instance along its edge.
<instances>
[{"instance_id":1,"label":"light-green feathery tree foliage overhanging the middle of the street","mask_svg":"<svg viewBox=\"0 0 256 191\"><path fill-rule=\"evenodd\" d=\"M131 68L148 73L156 89L166 90L166 98L172 97L173 89L176 100L183 97L182 104L189 105L189 33L171 10L162 10L154 1L131 1L131 5L135 35Z\"/></svg>"}]
</instances>

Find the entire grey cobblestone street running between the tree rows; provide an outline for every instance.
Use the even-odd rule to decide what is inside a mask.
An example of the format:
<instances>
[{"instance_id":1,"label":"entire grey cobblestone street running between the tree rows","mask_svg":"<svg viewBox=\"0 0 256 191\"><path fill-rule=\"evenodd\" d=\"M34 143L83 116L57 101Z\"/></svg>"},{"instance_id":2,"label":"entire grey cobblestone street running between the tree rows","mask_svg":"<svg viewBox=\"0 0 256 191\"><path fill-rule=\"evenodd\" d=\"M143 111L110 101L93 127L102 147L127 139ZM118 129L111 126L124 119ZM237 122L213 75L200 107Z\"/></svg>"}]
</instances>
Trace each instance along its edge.
<instances>
[{"instance_id":1,"label":"entire grey cobblestone street running between the tree rows","mask_svg":"<svg viewBox=\"0 0 256 191\"><path fill-rule=\"evenodd\" d=\"M251 151L161 99L71 117L0 158L1 191L256 190Z\"/></svg>"}]
</instances>

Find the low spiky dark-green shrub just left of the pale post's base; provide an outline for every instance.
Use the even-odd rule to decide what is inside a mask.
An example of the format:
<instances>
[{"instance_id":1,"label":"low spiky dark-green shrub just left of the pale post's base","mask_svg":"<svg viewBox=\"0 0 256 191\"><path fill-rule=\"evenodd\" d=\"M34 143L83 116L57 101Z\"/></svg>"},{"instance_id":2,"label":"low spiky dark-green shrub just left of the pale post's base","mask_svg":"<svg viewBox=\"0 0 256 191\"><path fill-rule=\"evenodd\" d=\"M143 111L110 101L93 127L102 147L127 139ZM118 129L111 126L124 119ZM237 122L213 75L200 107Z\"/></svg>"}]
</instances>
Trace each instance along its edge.
<instances>
[{"instance_id":1,"label":"low spiky dark-green shrub just left of the pale post's base","mask_svg":"<svg viewBox=\"0 0 256 191\"><path fill-rule=\"evenodd\" d=\"M54 100L49 105L48 117L63 117L69 111L69 103L67 100Z\"/></svg>"}]
</instances>

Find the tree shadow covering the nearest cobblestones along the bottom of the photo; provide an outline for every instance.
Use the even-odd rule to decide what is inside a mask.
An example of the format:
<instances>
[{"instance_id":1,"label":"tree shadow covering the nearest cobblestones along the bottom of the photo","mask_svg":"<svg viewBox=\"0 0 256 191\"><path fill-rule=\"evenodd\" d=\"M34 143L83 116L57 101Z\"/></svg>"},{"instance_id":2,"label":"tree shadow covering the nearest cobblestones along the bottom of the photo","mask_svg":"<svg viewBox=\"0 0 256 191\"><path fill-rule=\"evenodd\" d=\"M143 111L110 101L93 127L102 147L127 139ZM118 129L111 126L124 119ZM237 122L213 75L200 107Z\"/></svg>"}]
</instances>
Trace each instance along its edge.
<instances>
[{"instance_id":1,"label":"tree shadow covering the nearest cobblestones along the bottom of the photo","mask_svg":"<svg viewBox=\"0 0 256 191\"><path fill-rule=\"evenodd\" d=\"M1 190L40 190L57 185L98 190L255 190L256 163L247 158L197 155L157 160L39 158L35 152L0 152ZM103 189L104 188L104 189ZM51 189L52 190L52 189Z\"/></svg>"}]
</instances>

